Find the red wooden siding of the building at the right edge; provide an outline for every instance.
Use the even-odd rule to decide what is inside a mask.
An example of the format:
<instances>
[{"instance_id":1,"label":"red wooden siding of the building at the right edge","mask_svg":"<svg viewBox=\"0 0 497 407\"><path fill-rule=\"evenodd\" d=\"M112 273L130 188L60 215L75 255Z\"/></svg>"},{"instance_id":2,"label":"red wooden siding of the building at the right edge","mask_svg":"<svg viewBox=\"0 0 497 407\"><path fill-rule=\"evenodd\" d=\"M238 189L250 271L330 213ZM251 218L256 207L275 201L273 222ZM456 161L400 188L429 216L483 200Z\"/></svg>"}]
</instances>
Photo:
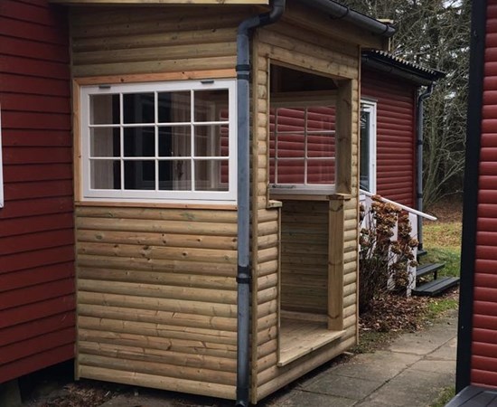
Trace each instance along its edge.
<instances>
[{"instance_id":1,"label":"red wooden siding of the building at the right edge","mask_svg":"<svg viewBox=\"0 0 497 407\"><path fill-rule=\"evenodd\" d=\"M497 387L497 1L488 1L471 382Z\"/></svg>"}]
</instances>

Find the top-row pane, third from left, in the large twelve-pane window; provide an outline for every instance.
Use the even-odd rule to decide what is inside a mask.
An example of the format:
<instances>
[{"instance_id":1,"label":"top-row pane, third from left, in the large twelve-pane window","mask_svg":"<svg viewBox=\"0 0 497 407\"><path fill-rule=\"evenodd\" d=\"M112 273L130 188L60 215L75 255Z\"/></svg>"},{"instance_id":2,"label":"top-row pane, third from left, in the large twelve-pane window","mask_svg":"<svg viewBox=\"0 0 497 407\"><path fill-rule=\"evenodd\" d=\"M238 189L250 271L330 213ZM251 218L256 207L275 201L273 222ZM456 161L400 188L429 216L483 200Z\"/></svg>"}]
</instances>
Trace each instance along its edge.
<instances>
[{"instance_id":1,"label":"top-row pane, third from left, in the large twelve-pane window","mask_svg":"<svg viewBox=\"0 0 497 407\"><path fill-rule=\"evenodd\" d=\"M159 123L190 123L192 98L190 90L158 94Z\"/></svg>"}]
</instances>

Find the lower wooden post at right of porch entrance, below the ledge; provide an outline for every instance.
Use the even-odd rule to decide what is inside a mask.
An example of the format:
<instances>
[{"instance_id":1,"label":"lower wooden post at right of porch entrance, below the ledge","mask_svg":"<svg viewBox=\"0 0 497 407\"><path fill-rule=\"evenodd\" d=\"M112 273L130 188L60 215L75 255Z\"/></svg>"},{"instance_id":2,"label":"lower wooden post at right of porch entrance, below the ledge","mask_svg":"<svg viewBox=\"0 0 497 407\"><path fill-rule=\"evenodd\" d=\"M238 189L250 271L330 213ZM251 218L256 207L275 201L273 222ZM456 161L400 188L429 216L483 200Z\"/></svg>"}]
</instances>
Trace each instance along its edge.
<instances>
[{"instance_id":1,"label":"lower wooden post at right of porch entrance, below the ledge","mask_svg":"<svg viewBox=\"0 0 497 407\"><path fill-rule=\"evenodd\" d=\"M343 236L345 222L344 197L330 200L328 238L328 329L343 329Z\"/></svg>"}]
</instances>

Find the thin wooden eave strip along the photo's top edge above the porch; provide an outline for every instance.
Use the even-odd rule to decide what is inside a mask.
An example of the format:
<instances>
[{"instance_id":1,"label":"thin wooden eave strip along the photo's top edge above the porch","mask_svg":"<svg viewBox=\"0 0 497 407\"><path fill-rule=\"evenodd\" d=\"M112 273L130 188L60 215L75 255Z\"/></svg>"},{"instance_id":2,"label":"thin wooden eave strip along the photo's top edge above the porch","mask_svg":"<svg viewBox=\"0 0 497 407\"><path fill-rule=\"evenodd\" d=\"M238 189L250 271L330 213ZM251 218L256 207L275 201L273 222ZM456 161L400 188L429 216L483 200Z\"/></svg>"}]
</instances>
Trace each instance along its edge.
<instances>
[{"instance_id":1,"label":"thin wooden eave strip along the photo's top edge above the porch","mask_svg":"<svg viewBox=\"0 0 497 407\"><path fill-rule=\"evenodd\" d=\"M268 5L269 0L49 0L61 5Z\"/></svg>"}]
</instances>

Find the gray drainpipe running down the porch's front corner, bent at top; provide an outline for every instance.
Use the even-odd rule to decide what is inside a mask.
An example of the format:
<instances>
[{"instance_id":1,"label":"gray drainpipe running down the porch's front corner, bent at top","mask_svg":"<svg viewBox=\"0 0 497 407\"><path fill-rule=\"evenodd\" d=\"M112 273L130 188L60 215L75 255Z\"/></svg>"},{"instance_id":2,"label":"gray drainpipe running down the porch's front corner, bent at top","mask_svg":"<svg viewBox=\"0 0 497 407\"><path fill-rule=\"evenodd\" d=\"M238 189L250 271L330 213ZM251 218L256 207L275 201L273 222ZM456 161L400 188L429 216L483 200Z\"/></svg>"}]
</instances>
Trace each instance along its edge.
<instances>
[{"instance_id":1,"label":"gray drainpipe running down the porch's front corner, bent at top","mask_svg":"<svg viewBox=\"0 0 497 407\"><path fill-rule=\"evenodd\" d=\"M250 336L250 33L273 24L285 11L286 0L271 2L269 13L254 15L239 24L237 34L238 113L238 328L237 406L248 406Z\"/></svg>"}]
</instances>

